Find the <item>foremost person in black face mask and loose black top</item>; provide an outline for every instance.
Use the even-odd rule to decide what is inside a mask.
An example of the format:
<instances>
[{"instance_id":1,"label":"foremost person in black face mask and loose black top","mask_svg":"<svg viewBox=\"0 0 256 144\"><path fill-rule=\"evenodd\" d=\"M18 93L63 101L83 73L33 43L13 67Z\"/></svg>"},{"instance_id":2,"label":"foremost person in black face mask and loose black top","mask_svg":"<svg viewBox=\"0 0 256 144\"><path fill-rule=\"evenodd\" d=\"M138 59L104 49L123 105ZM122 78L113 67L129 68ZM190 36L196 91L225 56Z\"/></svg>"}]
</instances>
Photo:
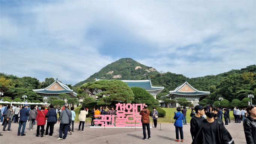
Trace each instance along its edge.
<instances>
[{"instance_id":1,"label":"foremost person in black face mask and loose black top","mask_svg":"<svg viewBox=\"0 0 256 144\"><path fill-rule=\"evenodd\" d=\"M235 144L227 129L214 119L215 108L208 105L204 108L206 119L200 124L200 128L194 139L195 144Z\"/></svg>"}]
</instances>

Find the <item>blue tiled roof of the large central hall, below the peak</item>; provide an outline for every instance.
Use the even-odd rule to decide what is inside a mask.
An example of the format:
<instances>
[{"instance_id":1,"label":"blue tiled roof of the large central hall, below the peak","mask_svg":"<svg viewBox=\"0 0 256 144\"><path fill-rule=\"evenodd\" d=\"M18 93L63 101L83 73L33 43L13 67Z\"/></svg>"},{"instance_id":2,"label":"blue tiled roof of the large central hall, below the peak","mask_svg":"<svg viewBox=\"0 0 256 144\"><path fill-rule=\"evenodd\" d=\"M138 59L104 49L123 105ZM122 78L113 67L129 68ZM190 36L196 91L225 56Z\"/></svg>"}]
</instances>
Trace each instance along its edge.
<instances>
[{"instance_id":1,"label":"blue tiled roof of the large central hall, below the peak","mask_svg":"<svg viewBox=\"0 0 256 144\"><path fill-rule=\"evenodd\" d=\"M124 81L126 84L128 84L129 87L140 87L145 90L159 90L163 89L163 87L151 87L150 81Z\"/></svg>"}]
</instances>

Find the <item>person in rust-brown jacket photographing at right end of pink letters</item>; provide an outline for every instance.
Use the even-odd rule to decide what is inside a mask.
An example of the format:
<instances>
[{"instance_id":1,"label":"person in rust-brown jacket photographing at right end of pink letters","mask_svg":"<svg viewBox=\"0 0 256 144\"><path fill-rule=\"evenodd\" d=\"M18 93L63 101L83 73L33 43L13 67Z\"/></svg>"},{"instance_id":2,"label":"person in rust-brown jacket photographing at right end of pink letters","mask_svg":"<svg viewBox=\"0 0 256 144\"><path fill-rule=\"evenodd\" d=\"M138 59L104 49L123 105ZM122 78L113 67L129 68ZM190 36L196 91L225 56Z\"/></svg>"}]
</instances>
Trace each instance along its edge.
<instances>
[{"instance_id":1,"label":"person in rust-brown jacket photographing at right end of pink letters","mask_svg":"<svg viewBox=\"0 0 256 144\"><path fill-rule=\"evenodd\" d=\"M140 111L140 115L142 115L142 129L143 129L143 139L147 140L146 127L148 130L148 139L151 139L150 136L150 125L149 125L149 114L148 105L144 105L144 109Z\"/></svg>"}]
</instances>

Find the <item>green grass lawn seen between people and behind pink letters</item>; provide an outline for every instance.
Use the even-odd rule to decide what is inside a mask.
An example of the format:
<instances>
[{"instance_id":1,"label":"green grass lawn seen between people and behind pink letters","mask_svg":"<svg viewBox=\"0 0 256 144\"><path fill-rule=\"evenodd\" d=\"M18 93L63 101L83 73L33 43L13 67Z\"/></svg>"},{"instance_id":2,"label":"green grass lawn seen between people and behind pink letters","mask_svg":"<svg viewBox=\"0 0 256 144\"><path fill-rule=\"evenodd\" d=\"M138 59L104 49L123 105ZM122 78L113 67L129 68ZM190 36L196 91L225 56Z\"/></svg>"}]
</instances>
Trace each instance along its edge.
<instances>
[{"instance_id":1,"label":"green grass lawn seen between people and behind pink letters","mask_svg":"<svg viewBox=\"0 0 256 144\"><path fill-rule=\"evenodd\" d=\"M79 116L79 110L80 110L81 106L75 108L75 122L79 122L78 121L78 116ZM174 111L176 111L176 108L162 108L164 111L166 111L166 116L165 117L160 117L158 118L158 123L174 123L175 120L173 119L174 117ZM191 117L190 117L190 113L191 113L191 109L187 109L187 123L190 123ZM229 112L230 115L230 119L233 120L234 116L233 116L233 111ZM90 123L92 120L92 118L90 117L86 117L86 123ZM223 118L224 120L224 118ZM150 117L150 121L152 123L152 117Z\"/></svg>"}]
</instances>

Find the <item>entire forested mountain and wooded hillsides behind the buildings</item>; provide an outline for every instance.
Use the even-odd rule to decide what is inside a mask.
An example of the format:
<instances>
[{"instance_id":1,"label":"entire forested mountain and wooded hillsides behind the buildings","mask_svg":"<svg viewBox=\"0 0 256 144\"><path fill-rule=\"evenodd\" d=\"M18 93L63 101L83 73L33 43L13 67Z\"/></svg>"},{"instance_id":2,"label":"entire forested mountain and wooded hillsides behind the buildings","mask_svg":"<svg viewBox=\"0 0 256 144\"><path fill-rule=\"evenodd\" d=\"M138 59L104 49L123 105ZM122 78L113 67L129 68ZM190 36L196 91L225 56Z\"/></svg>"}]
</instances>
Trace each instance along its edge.
<instances>
[{"instance_id":1,"label":"entire forested mountain and wooded hillsides behind the buildings","mask_svg":"<svg viewBox=\"0 0 256 144\"><path fill-rule=\"evenodd\" d=\"M233 99L241 101L248 94L256 95L256 65L247 66L240 70L231 70L218 75L187 78L184 75L171 72L159 73L154 68L140 64L131 58L121 58L105 66L99 72L91 75L74 87L68 86L74 89L75 92L78 92L78 87L84 83L95 81L95 78L103 80L147 80L151 78L153 86L165 87L157 96L157 99L164 99L164 96L169 91L174 90L187 80L197 90L211 92L209 96L200 99L202 104L212 104L218 101L220 96L231 102ZM41 83L38 79L32 77L19 78L14 75L0 73L0 91L12 99L28 95L30 100L42 100L42 96L37 95L32 89L45 88L53 83L53 81L54 78L46 78Z\"/></svg>"}]
</instances>

